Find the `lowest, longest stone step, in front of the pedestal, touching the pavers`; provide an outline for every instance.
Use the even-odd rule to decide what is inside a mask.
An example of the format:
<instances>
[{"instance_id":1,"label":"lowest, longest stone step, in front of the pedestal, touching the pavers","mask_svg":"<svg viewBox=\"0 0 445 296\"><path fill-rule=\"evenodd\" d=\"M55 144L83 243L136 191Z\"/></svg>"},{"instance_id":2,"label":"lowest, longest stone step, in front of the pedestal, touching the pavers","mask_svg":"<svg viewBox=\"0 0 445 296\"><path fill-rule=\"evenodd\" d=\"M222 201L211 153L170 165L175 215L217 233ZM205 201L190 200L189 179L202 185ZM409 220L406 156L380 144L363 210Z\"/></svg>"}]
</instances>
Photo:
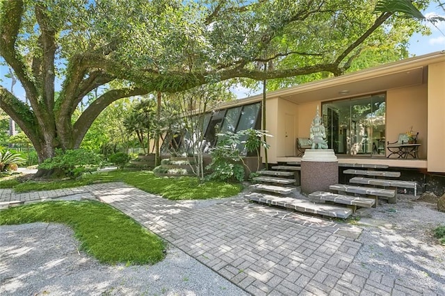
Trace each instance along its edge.
<instances>
[{"instance_id":1,"label":"lowest, longest stone step, in front of the pedestal, touching the pavers","mask_svg":"<svg viewBox=\"0 0 445 296\"><path fill-rule=\"evenodd\" d=\"M274 195L263 195L259 193L251 193L250 195L246 195L246 197L254 202L270 204L272 206L281 206L282 208L289 208L300 213L339 217L343 219L346 219L353 213L353 210L350 208L332 206L330 204L314 204L306 199L297 199L293 197L276 197Z\"/></svg>"}]
</instances>

